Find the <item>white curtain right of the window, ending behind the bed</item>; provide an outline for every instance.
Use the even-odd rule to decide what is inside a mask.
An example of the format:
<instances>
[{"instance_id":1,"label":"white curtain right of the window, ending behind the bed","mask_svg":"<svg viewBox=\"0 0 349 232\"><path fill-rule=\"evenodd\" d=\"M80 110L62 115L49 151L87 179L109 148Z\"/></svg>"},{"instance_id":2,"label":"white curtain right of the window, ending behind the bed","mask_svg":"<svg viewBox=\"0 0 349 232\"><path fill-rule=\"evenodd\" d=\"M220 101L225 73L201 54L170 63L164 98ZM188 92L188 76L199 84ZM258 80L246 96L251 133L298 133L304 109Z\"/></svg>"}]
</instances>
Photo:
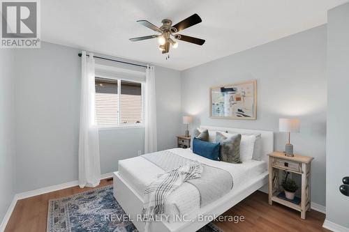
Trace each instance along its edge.
<instances>
[{"instance_id":1,"label":"white curtain right of the window, ending behind the bed","mask_svg":"<svg viewBox=\"0 0 349 232\"><path fill-rule=\"evenodd\" d=\"M158 150L156 137L156 95L154 66L148 66L145 72L145 137L144 153Z\"/></svg>"}]
</instances>

